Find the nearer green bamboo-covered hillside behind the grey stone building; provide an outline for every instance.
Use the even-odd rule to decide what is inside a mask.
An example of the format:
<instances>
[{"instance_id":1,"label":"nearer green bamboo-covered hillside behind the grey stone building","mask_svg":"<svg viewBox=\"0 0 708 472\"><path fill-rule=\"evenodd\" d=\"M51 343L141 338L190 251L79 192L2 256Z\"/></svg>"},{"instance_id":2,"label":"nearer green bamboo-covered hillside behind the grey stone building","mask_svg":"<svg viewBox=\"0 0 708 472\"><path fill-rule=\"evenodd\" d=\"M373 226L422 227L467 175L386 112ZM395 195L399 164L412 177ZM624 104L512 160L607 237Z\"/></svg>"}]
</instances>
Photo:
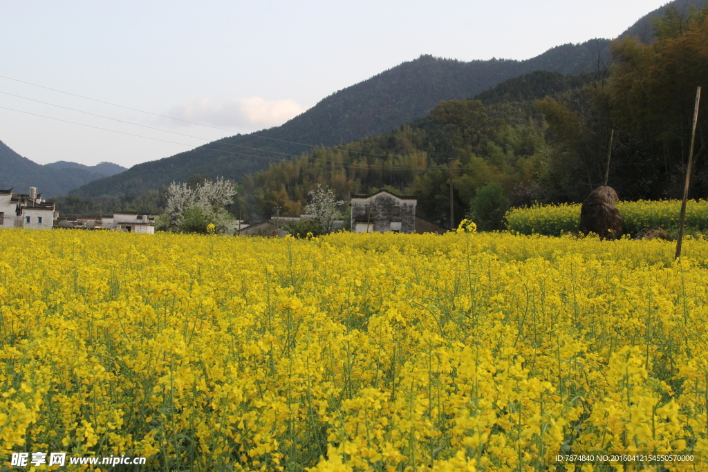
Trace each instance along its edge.
<instances>
[{"instance_id":1,"label":"nearer green bamboo-covered hillside behind the grey stone building","mask_svg":"<svg viewBox=\"0 0 708 472\"><path fill-rule=\"evenodd\" d=\"M244 177L230 210L251 220L270 217L275 207L281 207L282 214L297 215L317 184L332 188L342 200L348 200L350 192L386 188L416 195L418 214L447 226L450 159L455 166L458 219L467 212L476 188L490 182L501 183L514 202L522 205L530 203L530 197L558 198L533 181L550 149L534 100L571 96L587 80L535 71L475 97L482 101L450 100L438 104L427 117L392 132L271 163L267 170ZM203 177L194 175L188 183ZM101 214L113 209L157 212L164 205L165 191L149 190L137 198L113 200L70 196L59 200L59 209L66 214Z\"/></svg>"}]
</instances>

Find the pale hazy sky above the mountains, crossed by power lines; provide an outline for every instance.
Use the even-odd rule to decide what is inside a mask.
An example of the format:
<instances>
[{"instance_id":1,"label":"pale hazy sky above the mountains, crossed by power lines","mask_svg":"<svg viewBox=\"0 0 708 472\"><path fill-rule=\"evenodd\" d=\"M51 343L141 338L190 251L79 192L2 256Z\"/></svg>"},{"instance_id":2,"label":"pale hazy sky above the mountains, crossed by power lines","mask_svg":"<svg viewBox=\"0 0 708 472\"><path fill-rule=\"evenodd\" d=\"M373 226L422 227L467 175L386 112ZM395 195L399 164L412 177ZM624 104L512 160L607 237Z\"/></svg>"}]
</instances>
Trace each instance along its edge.
<instances>
[{"instance_id":1,"label":"pale hazy sky above the mountains, crossed by power lines","mask_svg":"<svg viewBox=\"0 0 708 472\"><path fill-rule=\"evenodd\" d=\"M615 38L665 3L0 0L0 76L233 131L0 77L0 141L38 163L132 166L280 125L421 54L528 59L567 42Z\"/></svg>"}]
</instances>

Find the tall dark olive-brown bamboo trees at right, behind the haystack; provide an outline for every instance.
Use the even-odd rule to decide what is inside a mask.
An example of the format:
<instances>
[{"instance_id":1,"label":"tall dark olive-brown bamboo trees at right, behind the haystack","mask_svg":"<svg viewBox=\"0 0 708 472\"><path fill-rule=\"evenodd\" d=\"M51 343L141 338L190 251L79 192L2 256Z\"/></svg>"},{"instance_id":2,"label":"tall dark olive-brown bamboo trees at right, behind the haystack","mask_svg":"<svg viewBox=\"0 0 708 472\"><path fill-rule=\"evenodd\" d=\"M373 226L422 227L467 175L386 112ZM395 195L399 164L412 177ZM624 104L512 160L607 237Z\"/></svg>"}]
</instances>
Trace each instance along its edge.
<instances>
[{"instance_id":1,"label":"tall dark olive-brown bamboo trees at right, behind the haystack","mask_svg":"<svg viewBox=\"0 0 708 472\"><path fill-rule=\"evenodd\" d=\"M577 183L602 182L608 137L615 129L610 185L625 200L683 194L697 87L708 90L708 8L685 15L670 6L655 32L651 43L630 38L615 43L615 66L606 81L537 103L550 125L554 153L573 168ZM690 197L708 195L707 137L704 96Z\"/></svg>"}]
</instances>

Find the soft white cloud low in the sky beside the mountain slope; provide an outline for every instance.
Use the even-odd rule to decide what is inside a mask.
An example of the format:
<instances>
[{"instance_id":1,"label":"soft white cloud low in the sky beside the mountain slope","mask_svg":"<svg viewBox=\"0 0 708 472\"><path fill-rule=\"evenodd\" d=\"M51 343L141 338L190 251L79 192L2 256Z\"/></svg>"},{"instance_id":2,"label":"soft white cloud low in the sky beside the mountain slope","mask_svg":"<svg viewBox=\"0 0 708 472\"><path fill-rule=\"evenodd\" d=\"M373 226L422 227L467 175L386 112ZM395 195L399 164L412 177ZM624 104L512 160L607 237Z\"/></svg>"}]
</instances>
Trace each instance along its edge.
<instances>
[{"instance_id":1,"label":"soft white cloud low in the sky beside the mountain slope","mask_svg":"<svg viewBox=\"0 0 708 472\"><path fill-rule=\"evenodd\" d=\"M229 127L241 132L282 125L304 111L305 108L295 100L265 100L261 97L230 100L203 98L183 102L166 114L181 120Z\"/></svg>"}]
</instances>

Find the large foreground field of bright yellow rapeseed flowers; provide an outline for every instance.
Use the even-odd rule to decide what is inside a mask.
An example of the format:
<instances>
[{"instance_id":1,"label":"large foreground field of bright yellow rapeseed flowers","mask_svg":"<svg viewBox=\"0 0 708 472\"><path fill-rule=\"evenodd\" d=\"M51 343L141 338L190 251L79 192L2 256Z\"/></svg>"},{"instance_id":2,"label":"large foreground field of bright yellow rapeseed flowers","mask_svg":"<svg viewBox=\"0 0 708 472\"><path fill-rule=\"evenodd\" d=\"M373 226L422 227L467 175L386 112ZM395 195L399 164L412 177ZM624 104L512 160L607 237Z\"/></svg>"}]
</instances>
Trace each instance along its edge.
<instances>
[{"instance_id":1,"label":"large foreground field of bright yellow rapeseed flowers","mask_svg":"<svg viewBox=\"0 0 708 472\"><path fill-rule=\"evenodd\" d=\"M503 233L0 237L0 469L35 451L540 471L708 450L708 241L674 263L665 241Z\"/></svg>"}]
</instances>

